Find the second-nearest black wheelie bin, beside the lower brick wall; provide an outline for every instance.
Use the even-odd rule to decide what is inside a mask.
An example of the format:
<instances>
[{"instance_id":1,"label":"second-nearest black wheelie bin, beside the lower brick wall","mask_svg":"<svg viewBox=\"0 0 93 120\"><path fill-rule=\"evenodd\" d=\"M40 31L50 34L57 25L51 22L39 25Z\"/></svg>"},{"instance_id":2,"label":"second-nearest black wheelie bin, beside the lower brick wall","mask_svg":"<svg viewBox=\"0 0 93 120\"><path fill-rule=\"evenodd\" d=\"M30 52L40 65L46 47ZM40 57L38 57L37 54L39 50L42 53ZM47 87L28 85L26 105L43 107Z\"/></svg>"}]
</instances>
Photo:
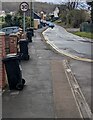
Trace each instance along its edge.
<instances>
[{"instance_id":1,"label":"second-nearest black wheelie bin, beside the lower brick wall","mask_svg":"<svg viewBox=\"0 0 93 120\"><path fill-rule=\"evenodd\" d=\"M28 41L26 39L20 39L18 43L21 60L29 60Z\"/></svg>"}]
</instances>

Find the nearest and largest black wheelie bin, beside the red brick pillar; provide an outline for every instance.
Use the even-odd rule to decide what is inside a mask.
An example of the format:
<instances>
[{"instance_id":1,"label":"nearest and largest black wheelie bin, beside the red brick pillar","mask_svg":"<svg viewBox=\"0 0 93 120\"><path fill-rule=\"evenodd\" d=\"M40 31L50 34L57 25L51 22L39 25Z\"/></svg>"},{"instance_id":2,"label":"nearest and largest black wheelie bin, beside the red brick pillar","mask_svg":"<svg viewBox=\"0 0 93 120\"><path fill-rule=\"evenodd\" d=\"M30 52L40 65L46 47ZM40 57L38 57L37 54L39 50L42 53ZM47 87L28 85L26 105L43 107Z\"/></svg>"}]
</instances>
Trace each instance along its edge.
<instances>
[{"instance_id":1,"label":"nearest and largest black wheelie bin, beside the red brick pillar","mask_svg":"<svg viewBox=\"0 0 93 120\"><path fill-rule=\"evenodd\" d=\"M15 54L8 54L3 62L8 78L10 90L22 90L25 80L22 78L22 69L19 64L19 57Z\"/></svg>"}]
</instances>

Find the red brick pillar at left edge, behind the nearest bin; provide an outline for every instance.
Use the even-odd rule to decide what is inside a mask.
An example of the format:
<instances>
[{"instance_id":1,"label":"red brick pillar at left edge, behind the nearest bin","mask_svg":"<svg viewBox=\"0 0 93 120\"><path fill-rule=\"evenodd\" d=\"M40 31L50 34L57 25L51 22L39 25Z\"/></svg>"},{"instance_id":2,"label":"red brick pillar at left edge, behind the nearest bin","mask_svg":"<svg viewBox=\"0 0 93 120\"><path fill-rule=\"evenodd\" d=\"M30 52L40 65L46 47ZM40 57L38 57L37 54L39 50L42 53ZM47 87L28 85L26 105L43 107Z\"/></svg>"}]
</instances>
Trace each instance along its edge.
<instances>
[{"instance_id":1,"label":"red brick pillar at left edge, behind the nearest bin","mask_svg":"<svg viewBox=\"0 0 93 120\"><path fill-rule=\"evenodd\" d=\"M5 33L0 32L0 88L6 86L6 73L2 59L5 57Z\"/></svg>"}]
</instances>

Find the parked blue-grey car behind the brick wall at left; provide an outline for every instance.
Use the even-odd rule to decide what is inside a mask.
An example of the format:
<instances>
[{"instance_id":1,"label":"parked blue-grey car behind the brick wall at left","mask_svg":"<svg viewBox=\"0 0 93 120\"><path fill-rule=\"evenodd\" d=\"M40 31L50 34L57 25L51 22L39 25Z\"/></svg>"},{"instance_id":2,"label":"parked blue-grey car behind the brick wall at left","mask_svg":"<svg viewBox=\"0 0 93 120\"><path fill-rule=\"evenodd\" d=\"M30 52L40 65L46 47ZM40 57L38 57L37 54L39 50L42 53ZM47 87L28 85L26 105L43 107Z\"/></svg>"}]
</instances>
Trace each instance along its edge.
<instances>
[{"instance_id":1,"label":"parked blue-grey car behind the brick wall at left","mask_svg":"<svg viewBox=\"0 0 93 120\"><path fill-rule=\"evenodd\" d=\"M11 33L17 33L20 30L20 27L13 26L13 27L5 27L0 30L0 32L5 32L6 35L9 35Z\"/></svg>"}]
</instances>

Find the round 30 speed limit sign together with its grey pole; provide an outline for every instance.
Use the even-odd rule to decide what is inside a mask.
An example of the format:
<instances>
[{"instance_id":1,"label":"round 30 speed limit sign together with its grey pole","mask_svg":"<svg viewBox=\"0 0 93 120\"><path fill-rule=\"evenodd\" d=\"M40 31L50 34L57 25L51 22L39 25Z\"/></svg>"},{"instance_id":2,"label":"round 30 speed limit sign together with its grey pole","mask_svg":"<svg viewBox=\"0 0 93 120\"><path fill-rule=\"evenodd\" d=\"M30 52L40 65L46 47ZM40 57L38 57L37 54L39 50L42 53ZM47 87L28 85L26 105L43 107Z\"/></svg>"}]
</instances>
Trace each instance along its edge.
<instances>
[{"instance_id":1,"label":"round 30 speed limit sign together with its grey pole","mask_svg":"<svg viewBox=\"0 0 93 120\"><path fill-rule=\"evenodd\" d=\"M25 12L28 11L29 4L27 2L22 2L20 4L20 10L23 12L23 32L25 34Z\"/></svg>"}]
</instances>

